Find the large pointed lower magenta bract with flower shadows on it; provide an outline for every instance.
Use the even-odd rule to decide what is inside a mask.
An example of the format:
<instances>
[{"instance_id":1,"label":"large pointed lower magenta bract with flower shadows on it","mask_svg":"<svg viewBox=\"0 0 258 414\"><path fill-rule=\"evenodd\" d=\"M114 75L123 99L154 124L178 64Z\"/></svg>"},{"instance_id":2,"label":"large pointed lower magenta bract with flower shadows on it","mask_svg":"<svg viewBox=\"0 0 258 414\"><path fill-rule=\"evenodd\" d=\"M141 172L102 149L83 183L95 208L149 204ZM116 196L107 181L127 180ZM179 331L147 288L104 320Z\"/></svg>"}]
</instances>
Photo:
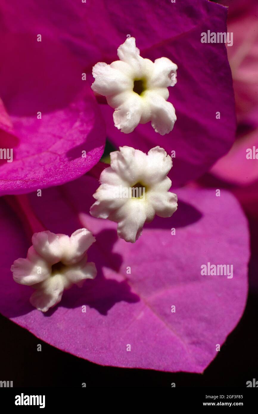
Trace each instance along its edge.
<instances>
[{"instance_id":1,"label":"large pointed lower magenta bract with flower shadows on it","mask_svg":"<svg viewBox=\"0 0 258 414\"><path fill-rule=\"evenodd\" d=\"M95 363L203 372L217 344L223 352L245 307L249 240L241 207L227 191L216 197L214 190L179 189L171 219L155 217L132 245L117 237L115 223L90 216L98 185L83 176L45 190L44 197L29 195L46 229L71 234L84 227L96 236L88 251L96 278L65 291L46 314L30 305L29 286L12 279L12 262L30 246L28 225L23 228L0 200L1 313L41 340ZM233 277L201 275L208 263L233 265Z\"/></svg>"}]
</instances>

